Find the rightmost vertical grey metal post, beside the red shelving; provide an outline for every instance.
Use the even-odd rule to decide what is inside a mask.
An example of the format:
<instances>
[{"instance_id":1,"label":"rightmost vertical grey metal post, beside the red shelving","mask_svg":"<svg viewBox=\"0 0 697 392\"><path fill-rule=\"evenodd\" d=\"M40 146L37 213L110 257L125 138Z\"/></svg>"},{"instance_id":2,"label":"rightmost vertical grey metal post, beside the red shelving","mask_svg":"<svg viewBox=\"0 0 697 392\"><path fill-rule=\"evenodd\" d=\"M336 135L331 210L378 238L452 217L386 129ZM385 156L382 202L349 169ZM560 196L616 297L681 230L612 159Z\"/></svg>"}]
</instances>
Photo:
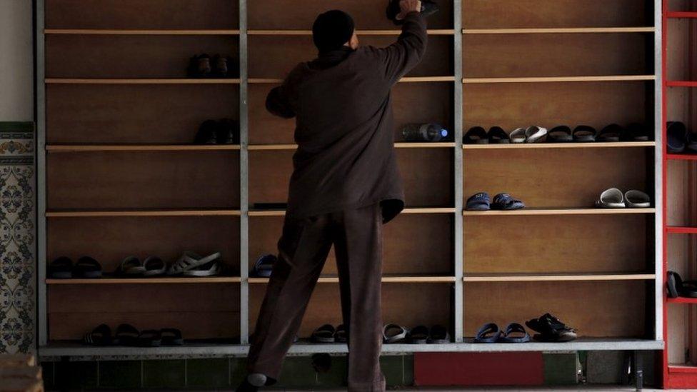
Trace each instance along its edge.
<instances>
[{"instance_id":1,"label":"rightmost vertical grey metal post, beside the red shelving","mask_svg":"<svg viewBox=\"0 0 697 392\"><path fill-rule=\"evenodd\" d=\"M667 0L666 0L667 1ZM654 258L656 280L654 281L654 338L663 340L663 3L662 0L653 0L653 26L656 32L653 35L653 70L656 81L653 84L653 134L656 139L654 149L654 192L653 200L656 203L656 215L654 216Z\"/></svg>"}]
</instances>

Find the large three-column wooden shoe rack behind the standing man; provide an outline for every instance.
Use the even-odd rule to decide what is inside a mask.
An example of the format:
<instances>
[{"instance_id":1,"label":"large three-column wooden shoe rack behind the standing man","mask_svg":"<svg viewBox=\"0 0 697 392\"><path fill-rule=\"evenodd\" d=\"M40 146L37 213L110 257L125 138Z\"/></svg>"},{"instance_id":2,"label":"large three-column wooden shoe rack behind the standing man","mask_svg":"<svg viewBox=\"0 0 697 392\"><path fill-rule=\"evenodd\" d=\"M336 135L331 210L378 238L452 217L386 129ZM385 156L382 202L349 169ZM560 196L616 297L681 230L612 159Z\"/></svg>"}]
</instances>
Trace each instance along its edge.
<instances>
[{"instance_id":1,"label":"large three-column wooden shoe rack behind the standing man","mask_svg":"<svg viewBox=\"0 0 697 392\"><path fill-rule=\"evenodd\" d=\"M381 3L381 2L380 2ZM407 208L385 226L383 318L444 324L453 342L413 351L657 350L663 347L661 138L596 144L471 146L471 126L642 122L660 129L661 1L438 1L428 51L393 89ZM371 0L337 0L362 44L399 31ZM316 53L308 30L326 1L39 0L39 341L41 356L244 355L274 253L294 151L293 121L264 99ZM533 11L534 10L534 11ZM185 79L189 56L239 56L239 79ZM658 86L658 87L657 87ZM199 124L231 117L239 146L193 146ZM399 128L436 121L454 141L406 144ZM656 208L601 210L604 189L640 189ZM528 208L463 211L507 191ZM231 276L46 279L59 256L121 258L221 251ZM334 256L300 336L341 323ZM551 312L570 343L473 344ZM99 323L180 328L181 347L76 343ZM294 353L346 352L301 341Z\"/></svg>"}]
</instances>

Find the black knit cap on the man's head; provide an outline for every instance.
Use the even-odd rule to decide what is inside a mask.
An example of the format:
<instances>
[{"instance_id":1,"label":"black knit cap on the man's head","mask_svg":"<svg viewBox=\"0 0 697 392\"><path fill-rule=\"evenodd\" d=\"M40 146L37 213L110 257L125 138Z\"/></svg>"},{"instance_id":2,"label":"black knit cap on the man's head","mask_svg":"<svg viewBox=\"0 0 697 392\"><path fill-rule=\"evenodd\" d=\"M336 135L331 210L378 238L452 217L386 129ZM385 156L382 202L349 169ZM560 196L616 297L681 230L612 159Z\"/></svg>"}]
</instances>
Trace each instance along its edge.
<instances>
[{"instance_id":1,"label":"black knit cap on the man's head","mask_svg":"<svg viewBox=\"0 0 697 392\"><path fill-rule=\"evenodd\" d=\"M312 25L312 39L320 52L340 49L353 36L353 18L333 9L319 14Z\"/></svg>"}]
</instances>

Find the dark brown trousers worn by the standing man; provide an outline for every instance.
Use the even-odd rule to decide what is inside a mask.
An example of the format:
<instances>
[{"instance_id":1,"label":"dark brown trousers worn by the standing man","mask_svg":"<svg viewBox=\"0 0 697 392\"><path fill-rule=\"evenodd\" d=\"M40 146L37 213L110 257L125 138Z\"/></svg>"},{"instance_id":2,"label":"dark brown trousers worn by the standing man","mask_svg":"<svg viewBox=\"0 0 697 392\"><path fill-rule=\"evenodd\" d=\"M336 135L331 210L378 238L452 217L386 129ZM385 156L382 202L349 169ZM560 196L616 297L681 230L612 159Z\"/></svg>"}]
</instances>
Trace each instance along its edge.
<instances>
[{"instance_id":1,"label":"dark brown trousers worn by the standing man","mask_svg":"<svg viewBox=\"0 0 697 392\"><path fill-rule=\"evenodd\" d=\"M279 261L271 273L249 349L251 373L279 378L334 244L341 312L349 336L349 391L384 391L382 344L382 214L379 204L310 218L286 217Z\"/></svg>"}]
</instances>

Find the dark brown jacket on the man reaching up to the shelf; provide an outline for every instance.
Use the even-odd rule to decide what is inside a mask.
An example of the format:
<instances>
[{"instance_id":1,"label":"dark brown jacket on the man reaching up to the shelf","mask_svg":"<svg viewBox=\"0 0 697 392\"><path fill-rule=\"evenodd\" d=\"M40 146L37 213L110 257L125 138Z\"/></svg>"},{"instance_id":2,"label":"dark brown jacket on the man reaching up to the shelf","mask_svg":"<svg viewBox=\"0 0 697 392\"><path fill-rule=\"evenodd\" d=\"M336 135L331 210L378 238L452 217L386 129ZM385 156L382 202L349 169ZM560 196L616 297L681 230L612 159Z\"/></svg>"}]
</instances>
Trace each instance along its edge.
<instances>
[{"instance_id":1,"label":"dark brown jacket on the man reaching up to the shelf","mask_svg":"<svg viewBox=\"0 0 697 392\"><path fill-rule=\"evenodd\" d=\"M296 118L289 216L379 202L386 222L402 210L390 90L421 61L426 41L426 21L413 12L394 44L321 53L271 90L266 108Z\"/></svg>"}]
</instances>

